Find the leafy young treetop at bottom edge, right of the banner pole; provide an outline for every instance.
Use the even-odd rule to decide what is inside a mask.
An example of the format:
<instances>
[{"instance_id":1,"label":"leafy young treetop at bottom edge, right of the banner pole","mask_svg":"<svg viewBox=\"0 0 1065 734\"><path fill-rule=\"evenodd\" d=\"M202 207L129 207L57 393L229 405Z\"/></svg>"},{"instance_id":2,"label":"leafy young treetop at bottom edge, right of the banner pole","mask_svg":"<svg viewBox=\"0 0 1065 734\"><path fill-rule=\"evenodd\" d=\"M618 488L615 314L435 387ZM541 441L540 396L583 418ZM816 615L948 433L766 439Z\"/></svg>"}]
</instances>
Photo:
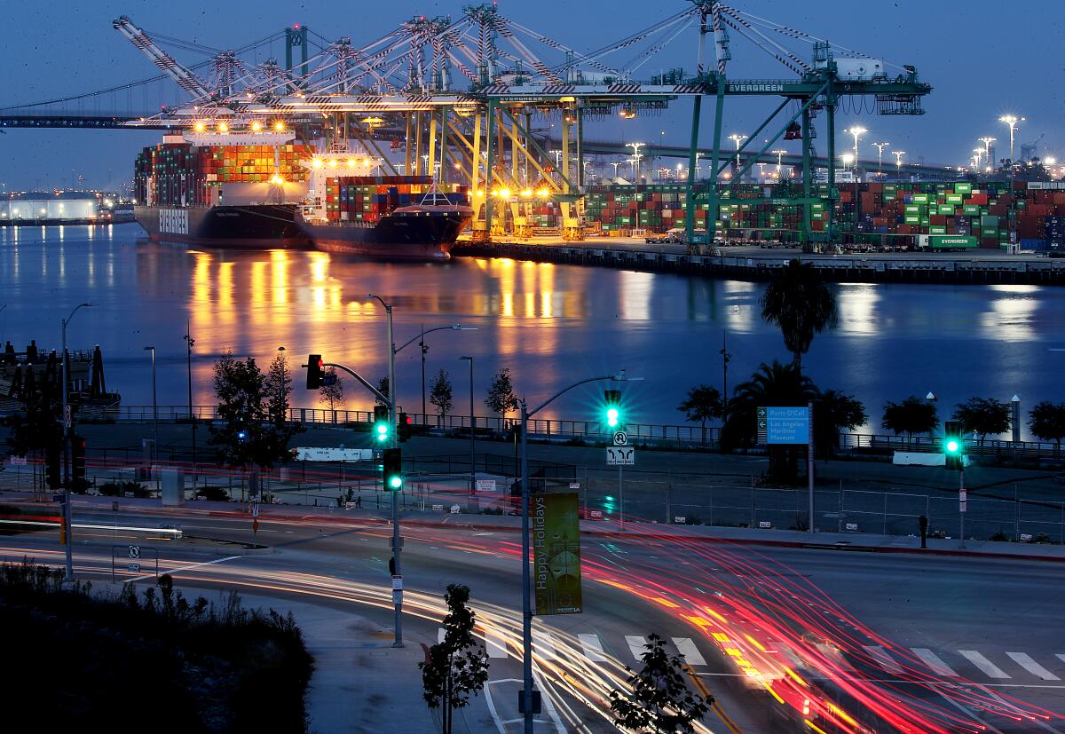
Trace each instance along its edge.
<instances>
[{"instance_id":1,"label":"leafy young treetop at bottom edge, right of the banner pole","mask_svg":"<svg viewBox=\"0 0 1065 734\"><path fill-rule=\"evenodd\" d=\"M622 729L634 732L652 731L656 734L693 732L701 721L714 697L703 699L688 689L684 679L681 658L666 653L666 640L651 635L646 650L640 656L643 668L626 679L630 692L610 691L610 711L615 722Z\"/></svg>"}]
</instances>

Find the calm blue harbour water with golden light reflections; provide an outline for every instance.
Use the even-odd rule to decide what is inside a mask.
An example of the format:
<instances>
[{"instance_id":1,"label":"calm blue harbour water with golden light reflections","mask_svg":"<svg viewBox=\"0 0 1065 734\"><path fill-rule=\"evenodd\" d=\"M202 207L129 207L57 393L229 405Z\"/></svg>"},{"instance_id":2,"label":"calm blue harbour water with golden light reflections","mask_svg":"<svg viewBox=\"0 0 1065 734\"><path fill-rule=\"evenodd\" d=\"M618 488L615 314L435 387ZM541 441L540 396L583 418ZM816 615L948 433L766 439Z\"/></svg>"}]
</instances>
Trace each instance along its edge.
<instances>
[{"instance_id":1,"label":"calm blue harbour water with golden light reflections","mask_svg":"<svg viewBox=\"0 0 1065 734\"><path fill-rule=\"evenodd\" d=\"M191 250L140 240L135 225L98 228L0 228L0 340L56 346L59 323L88 300L70 327L72 346L99 343L111 387L128 405L150 399L143 346L158 347L164 404L185 395L182 336L196 339L194 399L210 403L215 356L232 349L265 365L278 346L292 362L322 352L367 379L384 375L383 310L395 307L396 342L456 322L477 331L427 337L426 372L454 381L455 404L468 404L459 356L475 357L478 410L491 374L510 366L530 402L592 374L626 368L642 382L627 388L632 420L682 422L675 406L699 382L720 387L721 339L728 331L730 384L763 360L790 357L763 323L763 286L678 275L460 258L448 264L375 263L321 252ZM834 287L840 317L818 337L804 366L822 387L852 392L873 419L886 399L929 390L951 406L972 395L1026 406L1063 399L1058 373L1065 339L1065 297L1027 286ZM397 357L400 403L421 409L421 360L414 344ZM294 403L316 396L298 386ZM370 401L354 384L348 407ZM562 398L555 412L594 419L601 387Z\"/></svg>"}]
</instances>

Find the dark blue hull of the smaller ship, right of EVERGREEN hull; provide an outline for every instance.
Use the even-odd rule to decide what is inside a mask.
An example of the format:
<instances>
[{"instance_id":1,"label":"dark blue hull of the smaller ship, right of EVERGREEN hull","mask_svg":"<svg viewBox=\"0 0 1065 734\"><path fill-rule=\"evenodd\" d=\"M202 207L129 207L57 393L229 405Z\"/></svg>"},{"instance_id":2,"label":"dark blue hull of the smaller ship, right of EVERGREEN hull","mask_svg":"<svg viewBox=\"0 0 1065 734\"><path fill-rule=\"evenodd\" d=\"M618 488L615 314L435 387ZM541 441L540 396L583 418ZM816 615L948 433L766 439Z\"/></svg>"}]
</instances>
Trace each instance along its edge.
<instances>
[{"instance_id":1,"label":"dark blue hull of the smaller ship, right of EVERGREEN hull","mask_svg":"<svg viewBox=\"0 0 1065 734\"><path fill-rule=\"evenodd\" d=\"M315 224L299 221L300 230L325 252L382 260L447 260L459 232L470 221L462 212L386 215L374 225Z\"/></svg>"}]
</instances>

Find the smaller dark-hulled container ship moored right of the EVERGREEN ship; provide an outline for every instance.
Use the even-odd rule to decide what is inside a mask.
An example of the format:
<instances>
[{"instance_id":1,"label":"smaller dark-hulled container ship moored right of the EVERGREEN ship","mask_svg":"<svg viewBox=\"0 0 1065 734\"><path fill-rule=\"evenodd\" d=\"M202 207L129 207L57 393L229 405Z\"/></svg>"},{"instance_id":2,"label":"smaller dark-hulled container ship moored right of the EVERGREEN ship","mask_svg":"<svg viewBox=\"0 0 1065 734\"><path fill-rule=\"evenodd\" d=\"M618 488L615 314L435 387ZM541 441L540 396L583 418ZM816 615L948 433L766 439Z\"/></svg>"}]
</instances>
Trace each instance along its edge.
<instances>
[{"instance_id":1,"label":"smaller dark-hulled container ship moored right of the EVERGREEN ship","mask_svg":"<svg viewBox=\"0 0 1065 734\"><path fill-rule=\"evenodd\" d=\"M473 217L469 189L438 185L427 177L368 175L376 165L343 152L313 158L308 201L298 217L304 234L327 252L450 258L452 245Z\"/></svg>"}]
</instances>

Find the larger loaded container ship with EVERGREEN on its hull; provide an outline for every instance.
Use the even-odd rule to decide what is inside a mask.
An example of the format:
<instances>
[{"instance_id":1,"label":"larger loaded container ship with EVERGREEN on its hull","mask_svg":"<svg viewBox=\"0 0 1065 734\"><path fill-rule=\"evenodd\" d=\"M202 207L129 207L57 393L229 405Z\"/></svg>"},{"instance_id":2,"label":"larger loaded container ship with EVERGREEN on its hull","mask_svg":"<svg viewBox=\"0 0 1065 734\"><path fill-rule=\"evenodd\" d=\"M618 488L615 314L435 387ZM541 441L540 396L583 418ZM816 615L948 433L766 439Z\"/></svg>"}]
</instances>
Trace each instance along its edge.
<instances>
[{"instance_id":1,"label":"larger loaded container ship with EVERGREEN on its hull","mask_svg":"<svg viewBox=\"0 0 1065 734\"><path fill-rule=\"evenodd\" d=\"M133 214L151 240L196 246L309 247L296 225L310 149L283 131L166 135L136 159Z\"/></svg>"}]
</instances>

